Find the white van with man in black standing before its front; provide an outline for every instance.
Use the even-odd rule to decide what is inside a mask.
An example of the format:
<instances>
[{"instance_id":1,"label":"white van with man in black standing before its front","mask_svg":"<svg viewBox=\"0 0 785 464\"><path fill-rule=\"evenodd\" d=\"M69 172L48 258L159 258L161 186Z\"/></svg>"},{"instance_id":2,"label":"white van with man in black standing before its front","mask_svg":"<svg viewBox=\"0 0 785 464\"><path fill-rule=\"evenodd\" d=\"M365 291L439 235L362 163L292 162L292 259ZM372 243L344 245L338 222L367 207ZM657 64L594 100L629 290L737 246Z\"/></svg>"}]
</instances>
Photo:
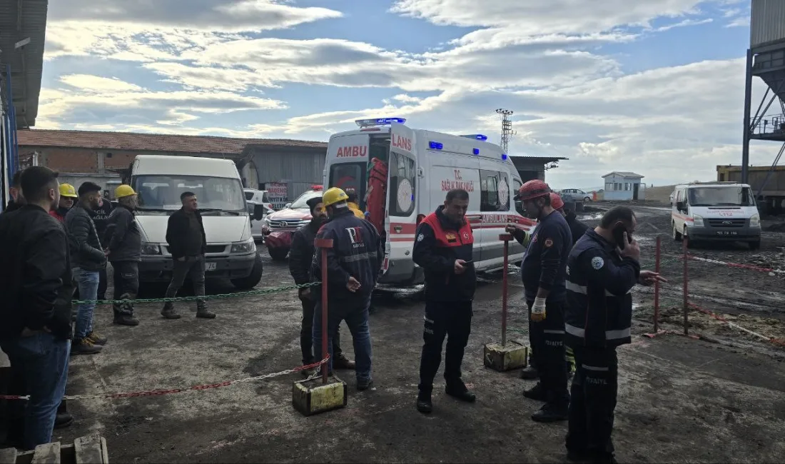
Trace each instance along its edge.
<instances>
[{"instance_id":1,"label":"white van with man in black standing before its front","mask_svg":"<svg viewBox=\"0 0 785 464\"><path fill-rule=\"evenodd\" d=\"M166 244L170 214L181 208L182 192L194 192L202 214L206 278L230 279L250 290L261 281L262 263L251 236L250 214L235 163L192 156L138 155L129 183L137 192L137 223L142 233L140 282L168 282L172 256ZM262 206L254 211L261 221Z\"/></svg>"}]
</instances>

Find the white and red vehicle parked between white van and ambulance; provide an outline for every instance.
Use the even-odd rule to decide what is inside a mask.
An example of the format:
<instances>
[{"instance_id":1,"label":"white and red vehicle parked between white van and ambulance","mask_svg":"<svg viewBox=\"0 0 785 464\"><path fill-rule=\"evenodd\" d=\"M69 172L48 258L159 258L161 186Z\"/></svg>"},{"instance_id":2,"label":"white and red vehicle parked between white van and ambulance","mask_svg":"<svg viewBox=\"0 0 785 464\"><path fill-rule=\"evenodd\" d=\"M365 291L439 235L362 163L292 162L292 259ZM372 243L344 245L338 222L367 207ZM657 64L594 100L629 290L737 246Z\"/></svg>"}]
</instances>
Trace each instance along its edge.
<instances>
[{"instance_id":1,"label":"white and red vehicle parked between white van and ambulance","mask_svg":"<svg viewBox=\"0 0 785 464\"><path fill-rule=\"evenodd\" d=\"M311 190L298 196L294 202L288 203L283 210L275 211L265 217L261 232L265 236L265 245L273 261L283 261L287 258L294 232L312 219L308 200L321 195L322 186L314 185Z\"/></svg>"}]
</instances>

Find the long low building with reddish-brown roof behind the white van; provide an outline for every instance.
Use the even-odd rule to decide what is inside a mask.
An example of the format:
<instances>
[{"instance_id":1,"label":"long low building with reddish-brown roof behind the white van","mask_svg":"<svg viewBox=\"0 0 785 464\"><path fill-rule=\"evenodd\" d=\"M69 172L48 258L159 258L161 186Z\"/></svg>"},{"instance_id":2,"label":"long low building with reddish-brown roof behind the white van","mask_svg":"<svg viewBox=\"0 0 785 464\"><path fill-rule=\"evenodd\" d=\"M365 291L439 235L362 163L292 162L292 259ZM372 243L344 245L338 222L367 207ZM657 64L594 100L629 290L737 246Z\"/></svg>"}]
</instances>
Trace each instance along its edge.
<instances>
[{"instance_id":1,"label":"long low building with reddish-brown roof behind the white van","mask_svg":"<svg viewBox=\"0 0 785 464\"><path fill-rule=\"evenodd\" d=\"M245 187L283 184L291 200L322 183L327 155L325 142L286 139L83 130L20 130L18 137L20 167L47 166L60 172L60 181L92 181L110 195L109 186L120 183L137 155L180 155L232 159Z\"/></svg>"}]
</instances>

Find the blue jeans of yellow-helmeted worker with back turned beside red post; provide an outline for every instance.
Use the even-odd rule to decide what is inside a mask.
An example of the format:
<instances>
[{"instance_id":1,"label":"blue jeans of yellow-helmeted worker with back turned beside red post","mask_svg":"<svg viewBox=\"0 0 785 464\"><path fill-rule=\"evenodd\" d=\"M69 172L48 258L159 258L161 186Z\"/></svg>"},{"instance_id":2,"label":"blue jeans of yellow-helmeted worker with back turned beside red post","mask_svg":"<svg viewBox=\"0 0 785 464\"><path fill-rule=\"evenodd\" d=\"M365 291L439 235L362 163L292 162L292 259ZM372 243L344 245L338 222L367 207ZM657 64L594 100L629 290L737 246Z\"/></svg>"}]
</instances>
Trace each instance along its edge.
<instances>
[{"instance_id":1,"label":"blue jeans of yellow-helmeted worker with back turned beside red post","mask_svg":"<svg viewBox=\"0 0 785 464\"><path fill-rule=\"evenodd\" d=\"M371 380L371 330L368 328L368 306L370 296L364 303L329 301L327 305L327 350L330 360L327 361L328 372L333 371L333 338L338 335L341 320L346 321L352 332L354 342L354 360L357 364L357 380ZM322 360L322 301L316 303L313 312L313 353L317 361Z\"/></svg>"}]
</instances>

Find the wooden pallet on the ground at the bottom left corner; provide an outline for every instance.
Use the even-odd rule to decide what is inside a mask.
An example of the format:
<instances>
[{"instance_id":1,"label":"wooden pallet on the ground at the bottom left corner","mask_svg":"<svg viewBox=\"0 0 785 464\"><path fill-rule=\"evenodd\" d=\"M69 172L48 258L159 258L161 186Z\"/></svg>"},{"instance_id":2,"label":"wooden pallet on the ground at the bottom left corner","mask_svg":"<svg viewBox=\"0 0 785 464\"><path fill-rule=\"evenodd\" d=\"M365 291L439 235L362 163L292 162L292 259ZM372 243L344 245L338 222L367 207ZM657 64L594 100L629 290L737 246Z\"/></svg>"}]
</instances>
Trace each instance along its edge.
<instances>
[{"instance_id":1,"label":"wooden pallet on the ground at the bottom left corner","mask_svg":"<svg viewBox=\"0 0 785 464\"><path fill-rule=\"evenodd\" d=\"M73 444L39 444L35 451L0 450L0 464L108 464L106 440L98 433L79 437Z\"/></svg>"}]
</instances>

